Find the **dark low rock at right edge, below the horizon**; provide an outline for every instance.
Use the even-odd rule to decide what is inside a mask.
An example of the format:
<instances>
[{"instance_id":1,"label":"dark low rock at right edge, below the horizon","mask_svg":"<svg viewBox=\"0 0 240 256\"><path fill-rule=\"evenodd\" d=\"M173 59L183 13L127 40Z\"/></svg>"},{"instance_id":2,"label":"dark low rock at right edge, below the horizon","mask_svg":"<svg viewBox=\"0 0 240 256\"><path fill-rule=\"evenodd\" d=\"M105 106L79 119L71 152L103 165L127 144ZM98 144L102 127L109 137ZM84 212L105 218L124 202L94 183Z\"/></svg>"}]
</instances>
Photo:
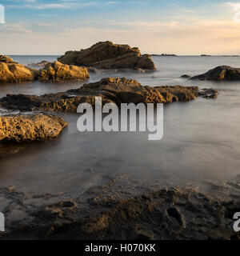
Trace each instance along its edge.
<instances>
[{"instance_id":1,"label":"dark low rock at right edge, below the horizon","mask_svg":"<svg viewBox=\"0 0 240 256\"><path fill-rule=\"evenodd\" d=\"M191 79L199 80L240 80L240 68L231 66L217 66L213 70L207 71L205 74L199 74Z\"/></svg>"}]
</instances>

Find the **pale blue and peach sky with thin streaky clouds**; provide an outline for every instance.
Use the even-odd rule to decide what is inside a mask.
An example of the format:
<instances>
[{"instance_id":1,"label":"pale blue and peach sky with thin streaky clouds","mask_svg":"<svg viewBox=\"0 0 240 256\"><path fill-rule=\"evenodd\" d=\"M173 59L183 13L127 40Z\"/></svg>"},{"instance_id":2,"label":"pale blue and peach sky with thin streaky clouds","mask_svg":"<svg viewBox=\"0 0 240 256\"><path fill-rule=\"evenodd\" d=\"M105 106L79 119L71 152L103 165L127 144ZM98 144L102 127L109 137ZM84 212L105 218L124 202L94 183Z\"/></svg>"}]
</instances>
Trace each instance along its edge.
<instances>
[{"instance_id":1,"label":"pale blue and peach sky with thin streaky clouds","mask_svg":"<svg viewBox=\"0 0 240 256\"><path fill-rule=\"evenodd\" d=\"M240 54L240 2L0 0L0 54L57 54L96 42L148 54ZM1 7L0 7L1 9Z\"/></svg>"}]
</instances>

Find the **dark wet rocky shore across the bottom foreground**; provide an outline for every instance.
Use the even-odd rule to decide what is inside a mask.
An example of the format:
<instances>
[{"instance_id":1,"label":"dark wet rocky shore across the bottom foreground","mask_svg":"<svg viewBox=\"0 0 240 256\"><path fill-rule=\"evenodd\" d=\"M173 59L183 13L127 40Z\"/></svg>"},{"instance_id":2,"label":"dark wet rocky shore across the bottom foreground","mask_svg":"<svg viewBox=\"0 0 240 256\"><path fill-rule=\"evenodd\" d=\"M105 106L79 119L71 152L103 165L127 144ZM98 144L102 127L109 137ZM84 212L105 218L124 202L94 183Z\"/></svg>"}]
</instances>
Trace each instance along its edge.
<instances>
[{"instance_id":1,"label":"dark wet rocky shore across the bottom foreground","mask_svg":"<svg viewBox=\"0 0 240 256\"><path fill-rule=\"evenodd\" d=\"M78 195L27 194L0 189L3 239L239 239L239 183L162 186L128 176L110 178ZM205 184L206 185L206 184ZM78 189L77 189L78 190ZM208 194L211 191L211 196ZM226 199L227 198L227 199Z\"/></svg>"}]
</instances>

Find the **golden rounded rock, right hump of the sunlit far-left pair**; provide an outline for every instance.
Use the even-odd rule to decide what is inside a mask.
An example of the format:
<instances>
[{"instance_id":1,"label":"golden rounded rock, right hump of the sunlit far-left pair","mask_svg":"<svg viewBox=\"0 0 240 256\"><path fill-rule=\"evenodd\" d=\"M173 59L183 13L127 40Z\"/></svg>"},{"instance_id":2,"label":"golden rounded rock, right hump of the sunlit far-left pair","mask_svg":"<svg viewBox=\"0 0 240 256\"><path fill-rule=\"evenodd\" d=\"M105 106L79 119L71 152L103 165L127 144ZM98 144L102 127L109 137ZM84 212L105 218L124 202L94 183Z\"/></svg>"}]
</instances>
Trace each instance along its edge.
<instances>
[{"instance_id":1,"label":"golden rounded rock, right hump of the sunlit far-left pair","mask_svg":"<svg viewBox=\"0 0 240 256\"><path fill-rule=\"evenodd\" d=\"M42 82L82 81L90 78L86 67L65 65L61 62L48 63L39 70L38 80Z\"/></svg>"}]
</instances>

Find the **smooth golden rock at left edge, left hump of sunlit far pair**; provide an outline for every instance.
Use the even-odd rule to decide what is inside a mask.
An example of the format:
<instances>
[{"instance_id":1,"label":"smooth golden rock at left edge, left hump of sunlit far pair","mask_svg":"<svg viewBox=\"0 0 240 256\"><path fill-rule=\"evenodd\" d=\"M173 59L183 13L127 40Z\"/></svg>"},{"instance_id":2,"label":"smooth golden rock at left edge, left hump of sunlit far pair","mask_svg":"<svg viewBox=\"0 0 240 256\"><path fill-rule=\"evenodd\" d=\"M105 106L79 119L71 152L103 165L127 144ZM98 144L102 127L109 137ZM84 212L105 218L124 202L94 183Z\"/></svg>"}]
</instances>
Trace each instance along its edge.
<instances>
[{"instance_id":1,"label":"smooth golden rock at left edge, left hump of sunlit far pair","mask_svg":"<svg viewBox=\"0 0 240 256\"><path fill-rule=\"evenodd\" d=\"M0 62L0 83L20 83L34 81L37 78L38 70L20 64Z\"/></svg>"}]
</instances>

